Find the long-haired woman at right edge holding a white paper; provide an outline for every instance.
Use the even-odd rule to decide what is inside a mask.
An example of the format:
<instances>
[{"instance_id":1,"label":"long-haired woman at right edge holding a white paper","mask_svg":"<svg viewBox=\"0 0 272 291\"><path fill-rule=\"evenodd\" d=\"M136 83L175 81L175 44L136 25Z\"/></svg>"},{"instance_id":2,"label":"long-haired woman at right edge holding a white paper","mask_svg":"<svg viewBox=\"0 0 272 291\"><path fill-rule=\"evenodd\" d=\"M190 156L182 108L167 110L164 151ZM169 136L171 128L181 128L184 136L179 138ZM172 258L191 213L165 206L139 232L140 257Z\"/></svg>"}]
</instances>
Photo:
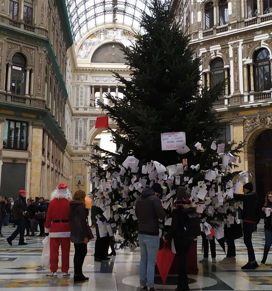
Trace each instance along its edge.
<instances>
[{"instance_id":1,"label":"long-haired woman at right edge holding a white paper","mask_svg":"<svg viewBox=\"0 0 272 291\"><path fill-rule=\"evenodd\" d=\"M272 245L272 192L268 192L265 197L264 207L262 211L265 211L266 208L269 208L268 211L270 215L266 217L264 223L264 235L265 235L265 245L264 245L264 255L261 261L261 265L265 265L267 255L269 253L270 247Z\"/></svg>"}]
</instances>

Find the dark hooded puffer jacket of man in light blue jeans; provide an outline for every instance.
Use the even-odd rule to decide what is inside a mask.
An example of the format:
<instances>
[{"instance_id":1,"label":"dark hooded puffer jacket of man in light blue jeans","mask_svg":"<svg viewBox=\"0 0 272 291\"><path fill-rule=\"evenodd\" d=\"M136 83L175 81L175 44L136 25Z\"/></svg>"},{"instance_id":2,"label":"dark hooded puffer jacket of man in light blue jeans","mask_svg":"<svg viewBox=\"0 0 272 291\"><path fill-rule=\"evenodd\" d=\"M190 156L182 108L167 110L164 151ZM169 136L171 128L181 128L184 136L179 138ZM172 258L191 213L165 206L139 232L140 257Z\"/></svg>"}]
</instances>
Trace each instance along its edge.
<instances>
[{"instance_id":1,"label":"dark hooded puffer jacket of man in light blue jeans","mask_svg":"<svg viewBox=\"0 0 272 291\"><path fill-rule=\"evenodd\" d=\"M165 218L161 199L150 187L145 187L135 208L138 218L138 232L145 235L159 235L159 219Z\"/></svg>"}]
</instances>

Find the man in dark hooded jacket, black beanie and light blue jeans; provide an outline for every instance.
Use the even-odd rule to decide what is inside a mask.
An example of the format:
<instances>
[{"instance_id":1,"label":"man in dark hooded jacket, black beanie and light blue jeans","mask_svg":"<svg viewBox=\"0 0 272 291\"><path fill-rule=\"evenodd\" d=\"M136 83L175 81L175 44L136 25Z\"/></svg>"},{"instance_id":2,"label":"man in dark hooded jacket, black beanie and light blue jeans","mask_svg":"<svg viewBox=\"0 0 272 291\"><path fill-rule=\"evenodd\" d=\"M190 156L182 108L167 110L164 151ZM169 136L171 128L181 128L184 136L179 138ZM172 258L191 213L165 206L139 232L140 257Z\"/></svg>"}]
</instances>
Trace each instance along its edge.
<instances>
[{"instance_id":1,"label":"man in dark hooded jacket, black beanie and light blue jeans","mask_svg":"<svg viewBox=\"0 0 272 291\"><path fill-rule=\"evenodd\" d=\"M152 188L145 187L137 200L135 208L135 214L138 218L138 239L141 251L141 290L155 290L154 270L160 241L159 219L165 218L165 212L158 197L159 194L162 194L160 184L154 183Z\"/></svg>"}]
</instances>

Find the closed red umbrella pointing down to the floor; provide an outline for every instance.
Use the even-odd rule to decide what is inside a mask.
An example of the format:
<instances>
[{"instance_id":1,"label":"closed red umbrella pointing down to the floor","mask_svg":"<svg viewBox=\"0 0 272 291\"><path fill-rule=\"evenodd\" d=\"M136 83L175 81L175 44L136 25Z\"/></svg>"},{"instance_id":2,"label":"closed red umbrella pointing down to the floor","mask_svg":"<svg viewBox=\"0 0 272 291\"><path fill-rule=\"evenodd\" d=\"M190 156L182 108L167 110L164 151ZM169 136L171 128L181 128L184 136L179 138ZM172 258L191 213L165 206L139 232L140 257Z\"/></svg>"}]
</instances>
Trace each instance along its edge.
<instances>
[{"instance_id":1,"label":"closed red umbrella pointing down to the floor","mask_svg":"<svg viewBox=\"0 0 272 291\"><path fill-rule=\"evenodd\" d=\"M163 249L158 251L156 264L160 272L163 285L165 285L166 283L166 278L168 276L174 258L175 254L170 251L170 249L168 249L165 244Z\"/></svg>"}]
</instances>

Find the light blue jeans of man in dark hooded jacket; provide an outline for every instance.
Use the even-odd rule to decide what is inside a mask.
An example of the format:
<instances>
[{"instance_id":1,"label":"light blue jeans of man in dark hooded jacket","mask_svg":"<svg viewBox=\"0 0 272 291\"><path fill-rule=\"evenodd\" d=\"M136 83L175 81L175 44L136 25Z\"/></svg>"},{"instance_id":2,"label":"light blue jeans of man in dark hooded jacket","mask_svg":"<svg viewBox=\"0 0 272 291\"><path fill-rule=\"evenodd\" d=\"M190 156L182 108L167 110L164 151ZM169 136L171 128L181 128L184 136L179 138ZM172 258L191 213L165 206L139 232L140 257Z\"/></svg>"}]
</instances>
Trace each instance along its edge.
<instances>
[{"instance_id":1,"label":"light blue jeans of man in dark hooded jacket","mask_svg":"<svg viewBox=\"0 0 272 291\"><path fill-rule=\"evenodd\" d=\"M138 234L141 260L140 260L140 284L154 287L154 272L159 251L160 239L157 235Z\"/></svg>"}]
</instances>

